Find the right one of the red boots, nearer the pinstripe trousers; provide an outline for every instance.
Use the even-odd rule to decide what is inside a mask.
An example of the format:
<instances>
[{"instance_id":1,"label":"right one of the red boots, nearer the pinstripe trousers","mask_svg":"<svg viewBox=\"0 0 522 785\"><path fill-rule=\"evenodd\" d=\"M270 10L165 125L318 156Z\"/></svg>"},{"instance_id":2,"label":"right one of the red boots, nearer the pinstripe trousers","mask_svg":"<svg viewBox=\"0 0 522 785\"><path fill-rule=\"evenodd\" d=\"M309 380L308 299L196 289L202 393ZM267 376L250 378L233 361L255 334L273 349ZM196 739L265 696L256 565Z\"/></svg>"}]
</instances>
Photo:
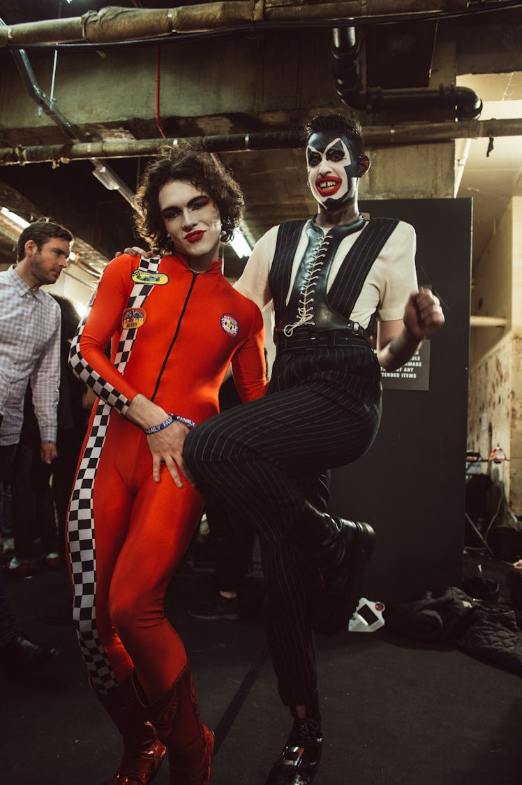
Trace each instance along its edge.
<instances>
[{"instance_id":1,"label":"right one of the red boots, nearer the pinstripe trousers","mask_svg":"<svg viewBox=\"0 0 522 785\"><path fill-rule=\"evenodd\" d=\"M148 707L148 717L169 751L170 783L208 785L214 733L202 725L188 665L169 692Z\"/></svg>"}]
</instances>

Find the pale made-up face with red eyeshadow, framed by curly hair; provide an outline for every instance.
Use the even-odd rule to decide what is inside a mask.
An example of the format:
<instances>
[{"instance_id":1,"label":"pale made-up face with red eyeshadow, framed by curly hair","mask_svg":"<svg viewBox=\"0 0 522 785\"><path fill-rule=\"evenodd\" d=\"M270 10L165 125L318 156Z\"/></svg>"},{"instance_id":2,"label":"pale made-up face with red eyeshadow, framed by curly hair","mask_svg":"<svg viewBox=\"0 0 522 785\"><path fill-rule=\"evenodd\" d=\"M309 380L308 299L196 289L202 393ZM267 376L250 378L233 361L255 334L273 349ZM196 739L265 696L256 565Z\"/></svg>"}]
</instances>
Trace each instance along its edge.
<instances>
[{"instance_id":1,"label":"pale made-up face with red eyeshadow, framed by curly hair","mask_svg":"<svg viewBox=\"0 0 522 785\"><path fill-rule=\"evenodd\" d=\"M210 196L192 183L171 181L158 195L166 231L174 248L193 270L204 270L219 257L221 217Z\"/></svg>"}]
</instances>

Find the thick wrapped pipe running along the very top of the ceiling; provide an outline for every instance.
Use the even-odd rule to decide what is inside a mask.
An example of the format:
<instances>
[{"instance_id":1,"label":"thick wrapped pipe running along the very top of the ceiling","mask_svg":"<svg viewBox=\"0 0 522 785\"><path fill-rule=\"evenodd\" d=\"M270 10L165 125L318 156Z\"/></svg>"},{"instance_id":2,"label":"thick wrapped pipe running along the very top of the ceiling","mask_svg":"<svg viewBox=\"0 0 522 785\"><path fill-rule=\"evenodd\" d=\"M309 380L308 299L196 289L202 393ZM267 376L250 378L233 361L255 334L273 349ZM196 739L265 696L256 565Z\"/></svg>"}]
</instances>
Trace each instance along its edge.
<instances>
[{"instance_id":1,"label":"thick wrapped pipe running along the very top of the ceiling","mask_svg":"<svg viewBox=\"0 0 522 785\"><path fill-rule=\"evenodd\" d=\"M467 0L429 0L422 13L465 10ZM88 11L68 19L12 24L0 29L0 46L51 44L75 41L114 42L154 38L171 33L214 32L227 27L261 21L304 22L306 20L345 20L418 13L417 0L345 0L316 2L296 0L235 0L181 5L171 9L124 9L109 7Z\"/></svg>"}]
</instances>

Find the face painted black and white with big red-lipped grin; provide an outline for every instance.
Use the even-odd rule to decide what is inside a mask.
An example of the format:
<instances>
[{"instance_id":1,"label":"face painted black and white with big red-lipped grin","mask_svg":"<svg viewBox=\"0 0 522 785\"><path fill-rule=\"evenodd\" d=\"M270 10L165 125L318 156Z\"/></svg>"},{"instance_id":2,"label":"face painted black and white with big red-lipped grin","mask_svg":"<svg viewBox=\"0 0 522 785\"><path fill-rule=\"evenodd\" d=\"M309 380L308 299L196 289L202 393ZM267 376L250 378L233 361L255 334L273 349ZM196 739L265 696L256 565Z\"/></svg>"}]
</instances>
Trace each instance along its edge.
<instances>
[{"instance_id":1,"label":"face painted black and white with big red-lipped grin","mask_svg":"<svg viewBox=\"0 0 522 785\"><path fill-rule=\"evenodd\" d=\"M338 209L355 198L360 172L347 137L313 133L306 148L306 162L308 185L320 205Z\"/></svg>"}]
</instances>

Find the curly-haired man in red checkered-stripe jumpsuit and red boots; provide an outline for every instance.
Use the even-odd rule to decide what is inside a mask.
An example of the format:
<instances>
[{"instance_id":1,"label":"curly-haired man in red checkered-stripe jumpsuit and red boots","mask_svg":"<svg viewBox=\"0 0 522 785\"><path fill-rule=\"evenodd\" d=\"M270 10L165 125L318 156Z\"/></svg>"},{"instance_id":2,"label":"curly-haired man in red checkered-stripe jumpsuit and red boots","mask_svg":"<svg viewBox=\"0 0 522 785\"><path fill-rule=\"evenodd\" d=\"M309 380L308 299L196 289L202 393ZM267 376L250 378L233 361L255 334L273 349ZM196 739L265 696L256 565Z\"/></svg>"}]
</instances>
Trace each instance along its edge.
<instances>
[{"instance_id":1,"label":"curly-haired man in red checkered-stripe jumpsuit and red boots","mask_svg":"<svg viewBox=\"0 0 522 785\"><path fill-rule=\"evenodd\" d=\"M123 736L113 785L148 783L165 748L170 782L210 777L214 738L163 601L203 508L184 437L217 413L230 363L243 401L267 385L261 312L224 279L219 258L242 207L239 186L210 155L162 152L144 173L136 224L166 255L111 261L71 347L71 367L100 398L68 550L89 681Z\"/></svg>"}]
</instances>

